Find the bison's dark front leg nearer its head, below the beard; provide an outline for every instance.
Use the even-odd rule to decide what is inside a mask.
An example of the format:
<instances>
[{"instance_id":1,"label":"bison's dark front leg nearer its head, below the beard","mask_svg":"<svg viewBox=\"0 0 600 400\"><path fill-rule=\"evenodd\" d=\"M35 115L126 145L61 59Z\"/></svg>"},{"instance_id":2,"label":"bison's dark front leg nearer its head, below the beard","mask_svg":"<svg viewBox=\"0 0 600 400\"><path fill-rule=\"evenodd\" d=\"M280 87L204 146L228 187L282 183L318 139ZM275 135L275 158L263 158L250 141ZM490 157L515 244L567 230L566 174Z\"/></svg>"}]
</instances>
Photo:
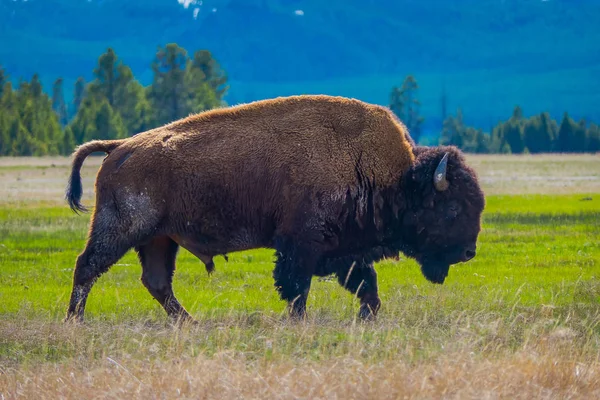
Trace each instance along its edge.
<instances>
[{"instance_id":1,"label":"bison's dark front leg nearer its head, below the beard","mask_svg":"<svg viewBox=\"0 0 600 400\"><path fill-rule=\"evenodd\" d=\"M360 299L358 317L372 320L381 307L377 289L377 273L373 264L363 260L338 261L336 276L342 287Z\"/></svg>"}]
</instances>

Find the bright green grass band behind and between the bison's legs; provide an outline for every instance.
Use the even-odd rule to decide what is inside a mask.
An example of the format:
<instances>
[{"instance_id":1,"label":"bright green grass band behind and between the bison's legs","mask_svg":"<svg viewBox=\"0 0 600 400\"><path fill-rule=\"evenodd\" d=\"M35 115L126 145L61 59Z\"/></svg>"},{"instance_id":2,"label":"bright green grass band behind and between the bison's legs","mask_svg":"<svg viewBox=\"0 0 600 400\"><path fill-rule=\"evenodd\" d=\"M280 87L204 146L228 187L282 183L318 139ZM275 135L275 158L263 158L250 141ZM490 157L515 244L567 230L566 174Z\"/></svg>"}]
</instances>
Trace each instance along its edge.
<instances>
[{"instance_id":1,"label":"bright green grass band behind and between the bison's legs","mask_svg":"<svg viewBox=\"0 0 600 400\"><path fill-rule=\"evenodd\" d=\"M453 266L443 286L428 283L412 260L378 264L380 319L397 321L394 334L402 335L424 316L443 326L461 313L510 319L551 307L555 315L591 318L600 304L599 221L599 195L489 197L478 256ZM1 319L60 321L88 222L89 215L77 216L66 206L0 209ZM255 314L282 319L285 303L273 287L273 258L271 250L235 253L229 262L217 258L216 273L208 276L197 259L181 250L175 293L203 321ZM130 251L103 275L88 300L89 323L166 321L139 281L140 273ZM325 328L327 337L343 336L336 327L353 320L357 309L356 299L335 279L314 279L309 312L335 322ZM598 334L598 327L593 332ZM0 343L1 360L14 343Z\"/></svg>"}]
</instances>

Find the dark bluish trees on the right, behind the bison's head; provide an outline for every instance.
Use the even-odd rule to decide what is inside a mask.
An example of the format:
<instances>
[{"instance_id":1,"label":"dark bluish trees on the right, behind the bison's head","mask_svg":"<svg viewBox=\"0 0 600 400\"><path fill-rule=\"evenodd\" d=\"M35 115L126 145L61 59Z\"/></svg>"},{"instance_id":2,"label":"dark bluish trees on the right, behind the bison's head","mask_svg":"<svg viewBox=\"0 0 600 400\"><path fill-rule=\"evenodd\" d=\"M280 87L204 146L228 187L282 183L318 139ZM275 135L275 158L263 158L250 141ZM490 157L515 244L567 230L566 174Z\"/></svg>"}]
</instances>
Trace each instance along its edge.
<instances>
[{"instance_id":1,"label":"dark bluish trees on the right, behind the bison's head","mask_svg":"<svg viewBox=\"0 0 600 400\"><path fill-rule=\"evenodd\" d=\"M419 85L409 75L400 87L393 87L389 108L407 126L415 142L421 138L424 118L419 114ZM512 116L500 121L488 132L467 126L460 109L446 116L446 93L442 91L441 114L443 126L438 144L455 145L469 153L584 153L600 151L600 128L585 120L574 121L564 113L560 123L543 112L530 118L516 106Z\"/></svg>"}]
</instances>

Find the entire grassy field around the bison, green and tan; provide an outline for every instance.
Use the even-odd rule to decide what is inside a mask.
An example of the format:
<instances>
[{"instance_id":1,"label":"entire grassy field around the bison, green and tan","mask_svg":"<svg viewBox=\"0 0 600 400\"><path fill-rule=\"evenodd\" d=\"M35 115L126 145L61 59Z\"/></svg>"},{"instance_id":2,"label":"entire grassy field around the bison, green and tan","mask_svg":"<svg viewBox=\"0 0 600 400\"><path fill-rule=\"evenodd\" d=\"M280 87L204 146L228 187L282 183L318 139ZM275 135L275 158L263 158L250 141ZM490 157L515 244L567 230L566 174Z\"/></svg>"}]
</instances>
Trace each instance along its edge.
<instances>
[{"instance_id":1,"label":"entire grassy field around the bison, green and tan","mask_svg":"<svg viewBox=\"0 0 600 400\"><path fill-rule=\"evenodd\" d=\"M90 204L99 159L84 168ZM187 251L174 328L128 253L64 325L89 216L63 204L68 160L0 159L0 399L594 398L600 396L600 157L472 156L487 194L478 256L443 286L378 264L383 308L314 279L293 323L270 250Z\"/></svg>"}]
</instances>

